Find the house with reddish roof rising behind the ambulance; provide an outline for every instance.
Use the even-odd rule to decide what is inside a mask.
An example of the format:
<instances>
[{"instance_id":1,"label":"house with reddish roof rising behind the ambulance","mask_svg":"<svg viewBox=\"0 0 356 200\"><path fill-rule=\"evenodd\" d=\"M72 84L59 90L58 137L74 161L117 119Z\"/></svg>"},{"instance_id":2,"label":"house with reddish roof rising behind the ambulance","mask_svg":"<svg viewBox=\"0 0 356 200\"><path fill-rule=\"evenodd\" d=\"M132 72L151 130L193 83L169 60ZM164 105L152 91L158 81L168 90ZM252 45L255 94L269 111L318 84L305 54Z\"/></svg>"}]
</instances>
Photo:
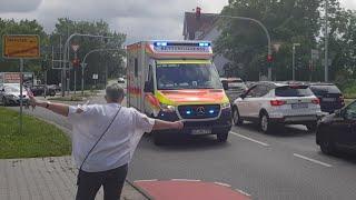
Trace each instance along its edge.
<instances>
[{"instance_id":1,"label":"house with reddish roof rising behind the ambulance","mask_svg":"<svg viewBox=\"0 0 356 200\"><path fill-rule=\"evenodd\" d=\"M218 29L218 14L201 13L200 18L196 18L196 12L186 12L184 21L182 36L185 40L209 40L218 39L221 31ZM230 64L230 61L221 54L215 54L214 63L220 76L225 76L224 68Z\"/></svg>"}]
</instances>

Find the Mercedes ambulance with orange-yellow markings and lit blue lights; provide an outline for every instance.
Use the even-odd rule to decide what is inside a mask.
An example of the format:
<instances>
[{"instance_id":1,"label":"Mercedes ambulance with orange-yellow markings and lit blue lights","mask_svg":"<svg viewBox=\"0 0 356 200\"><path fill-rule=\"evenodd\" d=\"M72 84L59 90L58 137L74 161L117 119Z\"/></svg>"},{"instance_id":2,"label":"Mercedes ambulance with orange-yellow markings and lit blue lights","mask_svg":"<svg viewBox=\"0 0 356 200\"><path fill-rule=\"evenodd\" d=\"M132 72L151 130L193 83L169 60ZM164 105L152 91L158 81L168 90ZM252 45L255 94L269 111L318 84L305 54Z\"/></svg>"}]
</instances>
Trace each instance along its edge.
<instances>
[{"instance_id":1,"label":"Mercedes ambulance with orange-yellow markings and lit blue lights","mask_svg":"<svg viewBox=\"0 0 356 200\"><path fill-rule=\"evenodd\" d=\"M178 134L228 139L231 108L209 41L141 41L127 46L127 102L156 119L182 120ZM172 131L154 132L155 143Z\"/></svg>"}]
</instances>

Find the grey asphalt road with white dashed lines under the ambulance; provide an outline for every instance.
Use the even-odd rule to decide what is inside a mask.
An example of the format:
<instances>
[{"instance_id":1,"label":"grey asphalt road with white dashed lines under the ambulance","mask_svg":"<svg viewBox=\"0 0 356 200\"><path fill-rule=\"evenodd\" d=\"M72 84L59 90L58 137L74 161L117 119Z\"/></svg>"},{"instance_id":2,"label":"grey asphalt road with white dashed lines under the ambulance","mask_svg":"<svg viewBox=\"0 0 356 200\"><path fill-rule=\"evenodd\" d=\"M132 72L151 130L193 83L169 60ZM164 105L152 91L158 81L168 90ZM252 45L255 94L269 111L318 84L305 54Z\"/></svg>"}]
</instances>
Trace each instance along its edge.
<instances>
[{"instance_id":1,"label":"grey asphalt road with white dashed lines under the ambulance","mask_svg":"<svg viewBox=\"0 0 356 200\"><path fill-rule=\"evenodd\" d=\"M92 102L103 102L102 97ZM43 109L33 113L70 127ZM315 133L301 126L263 134L247 123L234 127L225 144L212 136L175 137L168 144L156 147L146 136L128 179L217 181L264 200L356 199L356 158L322 154Z\"/></svg>"}]
</instances>

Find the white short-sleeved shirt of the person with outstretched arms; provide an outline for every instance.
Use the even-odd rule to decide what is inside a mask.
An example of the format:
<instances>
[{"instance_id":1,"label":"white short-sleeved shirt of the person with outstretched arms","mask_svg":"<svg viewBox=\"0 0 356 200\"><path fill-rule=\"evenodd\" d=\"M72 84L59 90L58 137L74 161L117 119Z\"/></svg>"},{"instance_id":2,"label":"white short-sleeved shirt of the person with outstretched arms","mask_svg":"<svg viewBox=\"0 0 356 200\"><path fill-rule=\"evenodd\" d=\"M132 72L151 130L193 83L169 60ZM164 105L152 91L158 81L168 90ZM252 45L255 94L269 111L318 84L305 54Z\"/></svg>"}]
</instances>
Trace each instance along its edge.
<instances>
[{"instance_id":1,"label":"white short-sleeved shirt of the person with outstretched arms","mask_svg":"<svg viewBox=\"0 0 356 200\"><path fill-rule=\"evenodd\" d=\"M78 169L86 156L112 121L121 106L118 103L69 107L72 123L72 154ZM78 112L82 110L82 112ZM134 108L121 107L107 133L82 166L87 172L99 172L130 162L145 132L150 132L155 120Z\"/></svg>"}]
</instances>

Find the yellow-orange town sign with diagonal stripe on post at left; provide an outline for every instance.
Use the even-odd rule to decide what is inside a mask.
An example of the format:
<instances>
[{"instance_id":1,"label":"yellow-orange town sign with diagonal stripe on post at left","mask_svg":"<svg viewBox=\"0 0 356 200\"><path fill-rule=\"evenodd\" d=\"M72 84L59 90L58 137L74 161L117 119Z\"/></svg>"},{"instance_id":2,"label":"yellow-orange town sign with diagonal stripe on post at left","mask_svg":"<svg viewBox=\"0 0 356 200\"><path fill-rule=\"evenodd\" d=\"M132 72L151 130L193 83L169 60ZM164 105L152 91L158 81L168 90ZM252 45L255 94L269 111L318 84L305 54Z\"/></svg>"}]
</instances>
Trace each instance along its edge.
<instances>
[{"instance_id":1,"label":"yellow-orange town sign with diagonal stripe on post at left","mask_svg":"<svg viewBox=\"0 0 356 200\"><path fill-rule=\"evenodd\" d=\"M40 38L34 34L8 34L2 38L6 59L34 59L40 57Z\"/></svg>"}]
</instances>

